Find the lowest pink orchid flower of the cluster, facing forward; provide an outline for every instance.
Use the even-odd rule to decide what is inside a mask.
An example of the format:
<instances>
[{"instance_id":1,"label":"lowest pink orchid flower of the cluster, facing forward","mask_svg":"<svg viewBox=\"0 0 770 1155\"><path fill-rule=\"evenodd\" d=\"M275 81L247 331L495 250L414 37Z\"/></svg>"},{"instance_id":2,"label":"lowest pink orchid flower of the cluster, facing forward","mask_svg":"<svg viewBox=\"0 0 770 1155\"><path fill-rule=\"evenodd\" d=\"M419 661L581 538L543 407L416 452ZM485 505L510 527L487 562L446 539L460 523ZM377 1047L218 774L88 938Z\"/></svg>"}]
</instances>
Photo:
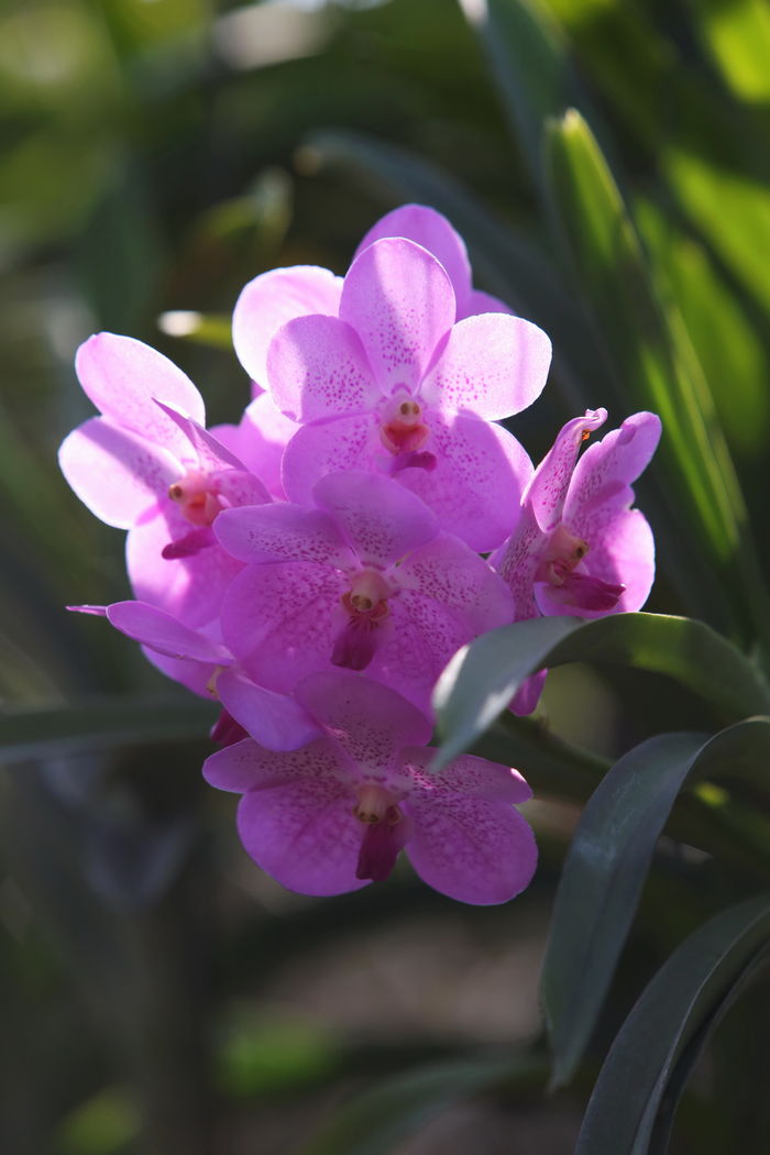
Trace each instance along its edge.
<instances>
[{"instance_id":1,"label":"lowest pink orchid flower of the cluster, facing forward","mask_svg":"<svg viewBox=\"0 0 770 1155\"><path fill-rule=\"evenodd\" d=\"M514 806L531 791L516 770L464 755L432 775L428 721L354 675L313 675L297 698L322 737L286 753L247 739L203 766L211 785L244 796L238 829L262 870L301 894L342 894L387 878L405 849L461 902L507 902L528 886L537 850Z\"/></svg>"}]
</instances>

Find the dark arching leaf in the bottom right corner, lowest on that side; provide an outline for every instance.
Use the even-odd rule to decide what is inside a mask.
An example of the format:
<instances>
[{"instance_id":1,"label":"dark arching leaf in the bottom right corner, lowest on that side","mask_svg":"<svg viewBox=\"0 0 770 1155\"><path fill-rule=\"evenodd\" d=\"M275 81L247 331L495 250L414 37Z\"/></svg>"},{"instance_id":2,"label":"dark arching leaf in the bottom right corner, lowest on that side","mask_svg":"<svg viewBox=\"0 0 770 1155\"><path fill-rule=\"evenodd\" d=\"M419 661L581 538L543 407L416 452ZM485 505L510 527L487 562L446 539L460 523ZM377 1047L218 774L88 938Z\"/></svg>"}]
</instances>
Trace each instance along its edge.
<instances>
[{"instance_id":1,"label":"dark arching leaf in the bottom right corner, lowest on that side","mask_svg":"<svg viewBox=\"0 0 770 1155\"><path fill-rule=\"evenodd\" d=\"M575 1155L663 1155L686 1078L768 944L768 894L722 911L682 942L618 1034Z\"/></svg>"}]
</instances>

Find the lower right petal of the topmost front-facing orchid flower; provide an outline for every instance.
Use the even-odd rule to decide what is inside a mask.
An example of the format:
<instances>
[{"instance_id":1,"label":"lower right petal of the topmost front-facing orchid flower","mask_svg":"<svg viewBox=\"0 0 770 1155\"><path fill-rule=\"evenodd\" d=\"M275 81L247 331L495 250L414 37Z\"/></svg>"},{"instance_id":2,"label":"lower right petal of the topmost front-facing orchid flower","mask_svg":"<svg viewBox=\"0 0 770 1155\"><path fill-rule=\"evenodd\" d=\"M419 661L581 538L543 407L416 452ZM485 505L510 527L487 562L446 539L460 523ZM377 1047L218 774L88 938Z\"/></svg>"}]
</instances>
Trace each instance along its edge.
<instances>
[{"instance_id":1,"label":"lower right petal of the topmost front-facing orchid flower","mask_svg":"<svg viewBox=\"0 0 770 1155\"><path fill-rule=\"evenodd\" d=\"M435 454L436 468L405 469L398 480L433 509L443 529L487 553L516 523L532 464L501 425L433 411L427 424L425 448Z\"/></svg>"}]
</instances>

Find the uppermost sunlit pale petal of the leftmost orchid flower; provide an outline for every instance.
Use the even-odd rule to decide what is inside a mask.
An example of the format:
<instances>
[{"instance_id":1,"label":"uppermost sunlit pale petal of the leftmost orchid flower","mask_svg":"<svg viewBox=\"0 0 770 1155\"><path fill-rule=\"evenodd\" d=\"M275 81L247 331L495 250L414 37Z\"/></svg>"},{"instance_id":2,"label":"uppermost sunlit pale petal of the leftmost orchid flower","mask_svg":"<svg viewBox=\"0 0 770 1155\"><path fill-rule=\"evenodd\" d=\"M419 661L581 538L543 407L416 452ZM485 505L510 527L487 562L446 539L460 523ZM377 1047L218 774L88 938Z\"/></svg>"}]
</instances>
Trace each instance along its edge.
<instances>
[{"instance_id":1,"label":"uppermost sunlit pale petal of the leftmost orchid flower","mask_svg":"<svg viewBox=\"0 0 770 1155\"><path fill-rule=\"evenodd\" d=\"M105 417L164 446L180 460L189 444L154 398L205 425L203 400L180 368L163 353L133 337L97 333L77 350L77 377Z\"/></svg>"}]
</instances>

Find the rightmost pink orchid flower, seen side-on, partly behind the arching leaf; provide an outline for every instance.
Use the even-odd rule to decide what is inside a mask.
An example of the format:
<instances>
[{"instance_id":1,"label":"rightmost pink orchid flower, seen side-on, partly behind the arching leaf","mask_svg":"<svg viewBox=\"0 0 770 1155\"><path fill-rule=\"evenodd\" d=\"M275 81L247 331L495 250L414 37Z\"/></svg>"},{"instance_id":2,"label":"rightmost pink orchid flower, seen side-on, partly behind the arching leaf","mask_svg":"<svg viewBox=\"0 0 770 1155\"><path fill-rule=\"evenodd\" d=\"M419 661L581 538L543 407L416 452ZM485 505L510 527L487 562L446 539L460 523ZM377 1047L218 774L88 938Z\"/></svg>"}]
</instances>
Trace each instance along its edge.
<instances>
[{"instance_id":1,"label":"rightmost pink orchid flower, seen side-on, partly behind the arching leaf","mask_svg":"<svg viewBox=\"0 0 770 1155\"><path fill-rule=\"evenodd\" d=\"M655 579L655 541L631 509L631 483L660 438L656 413L634 413L580 459L604 425L606 409L586 410L562 427L522 499L522 516L489 559L514 596L514 621L540 616L600 618L640 610ZM522 687L515 710L529 714L545 672Z\"/></svg>"}]
</instances>

